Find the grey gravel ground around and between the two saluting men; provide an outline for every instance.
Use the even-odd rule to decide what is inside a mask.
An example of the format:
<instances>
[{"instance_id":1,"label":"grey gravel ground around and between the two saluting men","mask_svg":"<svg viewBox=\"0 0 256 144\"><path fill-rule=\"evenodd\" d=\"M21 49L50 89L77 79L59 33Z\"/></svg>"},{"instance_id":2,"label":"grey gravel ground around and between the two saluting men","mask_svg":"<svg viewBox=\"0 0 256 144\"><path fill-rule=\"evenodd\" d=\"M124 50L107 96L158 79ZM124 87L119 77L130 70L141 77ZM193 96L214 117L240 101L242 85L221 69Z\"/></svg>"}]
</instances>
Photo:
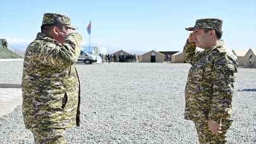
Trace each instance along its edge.
<instances>
[{"instance_id":1,"label":"grey gravel ground around and between the two saluting men","mask_svg":"<svg viewBox=\"0 0 256 144\"><path fill-rule=\"evenodd\" d=\"M20 62L0 63L1 69L11 69L1 71L0 82L20 81L21 67ZM183 119L190 65L111 63L77 68L82 123L67 130L68 143L198 143L193 123ZM228 143L256 143L256 69L238 70ZM21 106L0 117L0 128L0 143L34 143L24 128Z\"/></svg>"}]
</instances>

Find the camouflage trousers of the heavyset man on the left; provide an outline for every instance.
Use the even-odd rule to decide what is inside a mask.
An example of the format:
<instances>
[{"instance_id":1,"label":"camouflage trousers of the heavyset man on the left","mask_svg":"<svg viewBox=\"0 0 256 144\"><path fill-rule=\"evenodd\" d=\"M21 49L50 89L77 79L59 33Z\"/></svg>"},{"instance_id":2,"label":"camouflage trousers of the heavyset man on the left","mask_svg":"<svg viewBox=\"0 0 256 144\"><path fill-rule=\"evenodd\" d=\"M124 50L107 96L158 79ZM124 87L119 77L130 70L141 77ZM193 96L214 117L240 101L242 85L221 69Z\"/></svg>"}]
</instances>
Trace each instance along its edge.
<instances>
[{"instance_id":1,"label":"camouflage trousers of the heavyset man on the left","mask_svg":"<svg viewBox=\"0 0 256 144\"><path fill-rule=\"evenodd\" d=\"M30 129L35 144L66 144L65 129Z\"/></svg>"}]
</instances>

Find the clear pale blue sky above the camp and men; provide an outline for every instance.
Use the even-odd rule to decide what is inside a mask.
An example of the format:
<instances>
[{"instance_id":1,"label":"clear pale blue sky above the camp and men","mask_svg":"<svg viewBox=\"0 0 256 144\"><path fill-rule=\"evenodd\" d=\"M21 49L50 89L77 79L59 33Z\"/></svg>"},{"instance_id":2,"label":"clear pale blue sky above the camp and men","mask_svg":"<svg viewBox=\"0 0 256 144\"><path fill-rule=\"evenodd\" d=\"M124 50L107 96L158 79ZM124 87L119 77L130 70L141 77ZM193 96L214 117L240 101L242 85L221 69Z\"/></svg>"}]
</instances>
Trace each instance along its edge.
<instances>
[{"instance_id":1,"label":"clear pale blue sky above the camp and men","mask_svg":"<svg viewBox=\"0 0 256 144\"><path fill-rule=\"evenodd\" d=\"M221 18L229 49L256 48L256 1L14 1L2 0L0 37L10 44L28 43L40 31L44 13L62 13L88 44L86 27L92 21L91 43L120 49L182 51L199 18Z\"/></svg>"}]
</instances>

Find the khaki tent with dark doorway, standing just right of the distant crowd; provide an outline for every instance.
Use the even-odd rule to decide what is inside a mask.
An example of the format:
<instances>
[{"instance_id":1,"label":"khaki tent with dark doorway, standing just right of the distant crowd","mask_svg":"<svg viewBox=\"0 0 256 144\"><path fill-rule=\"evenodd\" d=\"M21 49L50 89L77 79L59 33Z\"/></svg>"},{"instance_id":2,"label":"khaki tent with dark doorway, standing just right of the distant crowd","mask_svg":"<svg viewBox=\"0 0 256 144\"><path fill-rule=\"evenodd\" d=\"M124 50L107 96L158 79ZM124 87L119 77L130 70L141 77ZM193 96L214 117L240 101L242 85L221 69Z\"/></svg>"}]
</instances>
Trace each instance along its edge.
<instances>
[{"instance_id":1,"label":"khaki tent with dark doorway, standing just right of the distant crowd","mask_svg":"<svg viewBox=\"0 0 256 144\"><path fill-rule=\"evenodd\" d=\"M142 63L162 63L164 62L164 54L157 51L149 51L142 54Z\"/></svg>"}]
</instances>

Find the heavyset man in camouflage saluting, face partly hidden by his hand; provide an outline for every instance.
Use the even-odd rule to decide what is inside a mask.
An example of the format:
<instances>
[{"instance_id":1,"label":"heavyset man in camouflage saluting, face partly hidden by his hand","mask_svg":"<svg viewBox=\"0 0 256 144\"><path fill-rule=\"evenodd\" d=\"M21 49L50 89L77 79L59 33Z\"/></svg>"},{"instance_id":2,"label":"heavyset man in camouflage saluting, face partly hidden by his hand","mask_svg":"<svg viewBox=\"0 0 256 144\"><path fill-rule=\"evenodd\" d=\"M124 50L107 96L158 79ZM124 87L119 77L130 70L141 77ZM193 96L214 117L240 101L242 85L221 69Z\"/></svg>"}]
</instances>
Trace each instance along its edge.
<instances>
[{"instance_id":1,"label":"heavyset man in camouflage saluting, face partly hidden by his hand","mask_svg":"<svg viewBox=\"0 0 256 144\"><path fill-rule=\"evenodd\" d=\"M82 37L70 18L45 13L41 32L27 47L22 98L25 127L35 143L66 143L65 128L80 123L80 83L75 63Z\"/></svg>"}]
</instances>

